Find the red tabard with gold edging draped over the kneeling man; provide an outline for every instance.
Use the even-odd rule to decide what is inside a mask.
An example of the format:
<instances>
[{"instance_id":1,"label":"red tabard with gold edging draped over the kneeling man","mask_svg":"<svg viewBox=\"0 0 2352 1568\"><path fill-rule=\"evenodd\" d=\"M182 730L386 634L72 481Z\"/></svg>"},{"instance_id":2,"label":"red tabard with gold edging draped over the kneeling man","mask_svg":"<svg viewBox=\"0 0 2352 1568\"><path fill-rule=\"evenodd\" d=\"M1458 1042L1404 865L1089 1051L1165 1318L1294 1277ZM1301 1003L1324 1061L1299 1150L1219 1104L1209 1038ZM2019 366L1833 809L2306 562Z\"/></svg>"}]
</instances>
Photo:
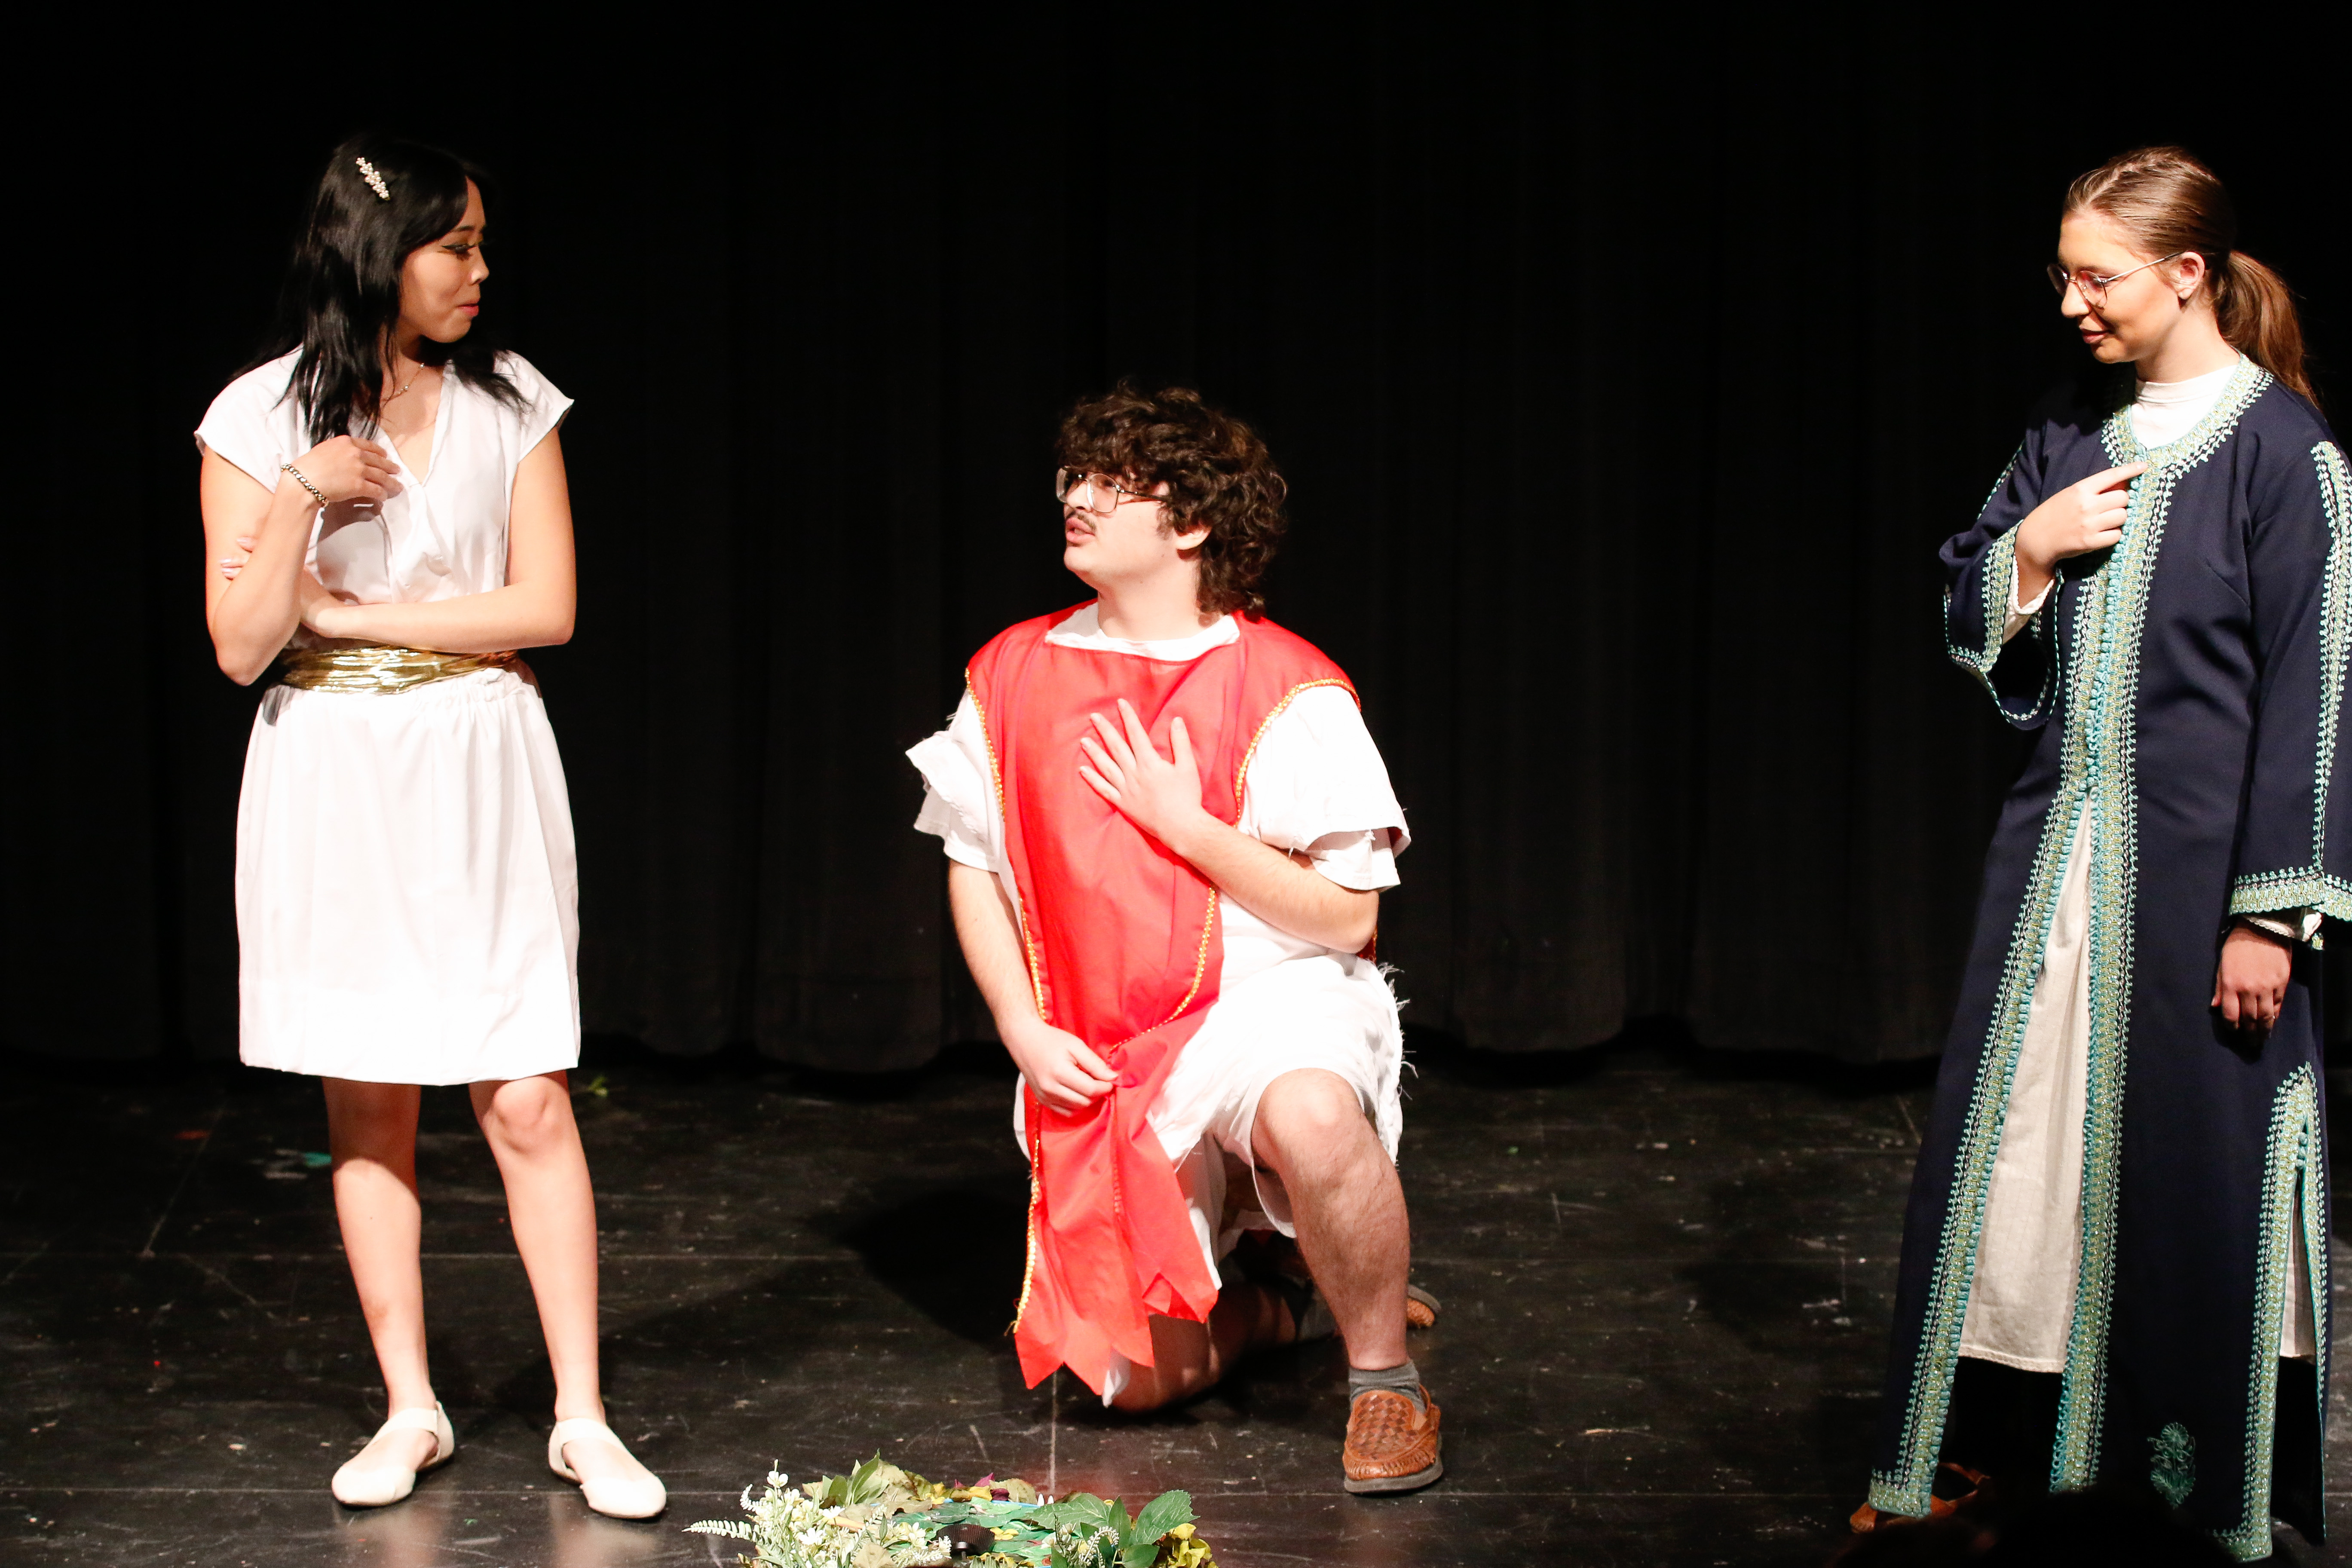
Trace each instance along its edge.
<instances>
[{"instance_id":1,"label":"red tabard with gold edging draped over the kneeling man","mask_svg":"<svg viewBox=\"0 0 2352 1568\"><path fill-rule=\"evenodd\" d=\"M1167 757L1183 717L1202 806L1235 823L1275 715L1308 686L1348 696L1355 686L1270 621L1237 616L1235 642L1162 661L1049 644L1070 614L1000 632L964 684L988 731L1037 1016L1120 1074L1082 1112L1021 1091L1030 1229L1014 1342L1030 1387L1068 1366L1103 1392L1112 1352L1152 1363L1148 1314L1207 1321L1216 1305L1185 1194L1145 1114L1216 1001L1225 943L1216 889L1080 778L1077 741L1091 715L1117 722L1127 698Z\"/></svg>"}]
</instances>

